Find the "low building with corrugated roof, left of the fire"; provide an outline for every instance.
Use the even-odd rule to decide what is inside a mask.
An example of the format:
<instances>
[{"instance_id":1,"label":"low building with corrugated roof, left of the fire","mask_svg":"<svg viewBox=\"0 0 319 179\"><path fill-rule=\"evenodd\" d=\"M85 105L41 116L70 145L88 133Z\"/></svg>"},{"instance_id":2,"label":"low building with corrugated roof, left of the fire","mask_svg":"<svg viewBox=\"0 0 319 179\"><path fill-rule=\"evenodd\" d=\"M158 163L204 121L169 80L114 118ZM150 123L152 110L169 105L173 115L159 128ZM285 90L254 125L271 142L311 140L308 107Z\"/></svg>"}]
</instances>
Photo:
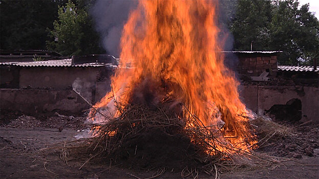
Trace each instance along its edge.
<instances>
[{"instance_id":1,"label":"low building with corrugated roof, left of the fire","mask_svg":"<svg viewBox=\"0 0 319 179\"><path fill-rule=\"evenodd\" d=\"M84 61L84 62L83 62ZM110 76L117 60L110 55L90 55L72 59L2 62L1 109L27 115L80 114L110 91Z\"/></svg>"}]
</instances>

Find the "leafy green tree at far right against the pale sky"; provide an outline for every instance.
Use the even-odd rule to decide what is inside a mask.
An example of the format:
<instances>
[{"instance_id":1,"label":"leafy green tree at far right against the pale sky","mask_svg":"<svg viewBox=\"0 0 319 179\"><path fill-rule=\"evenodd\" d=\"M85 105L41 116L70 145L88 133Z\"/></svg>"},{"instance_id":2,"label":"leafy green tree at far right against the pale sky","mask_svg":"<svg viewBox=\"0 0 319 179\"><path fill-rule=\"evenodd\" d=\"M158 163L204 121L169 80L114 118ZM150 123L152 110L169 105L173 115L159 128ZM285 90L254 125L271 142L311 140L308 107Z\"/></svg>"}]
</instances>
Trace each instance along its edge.
<instances>
[{"instance_id":1,"label":"leafy green tree at far right against the pale sky","mask_svg":"<svg viewBox=\"0 0 319 179\"><path fill-rule=\"evenodd\" d=\"M270 47L283 51L281 64L312 64L318 58L319 23L309 4L299 7L294 0L276 1L271 19Z\"/></svg>"}]
</instances>

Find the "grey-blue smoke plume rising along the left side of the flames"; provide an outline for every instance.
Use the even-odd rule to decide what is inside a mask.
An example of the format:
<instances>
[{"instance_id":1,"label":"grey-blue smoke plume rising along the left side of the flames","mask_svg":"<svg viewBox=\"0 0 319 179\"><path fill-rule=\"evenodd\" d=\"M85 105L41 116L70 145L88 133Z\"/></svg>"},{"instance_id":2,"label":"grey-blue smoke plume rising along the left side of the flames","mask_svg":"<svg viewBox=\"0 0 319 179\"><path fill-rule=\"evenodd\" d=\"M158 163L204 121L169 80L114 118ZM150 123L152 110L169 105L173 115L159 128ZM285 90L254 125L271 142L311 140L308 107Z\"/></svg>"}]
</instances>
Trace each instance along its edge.
<instances>
[{"instance_id":1,"label":"grey-blue smoke plume rising along the left side of the flames","mask_svg":"<svg viewBox=\"0 0 319 179\"><path fill-rule=\"evenodd\" d=\"M96 1L91 9L96 30L101 34L102 45L107 52L119 57L119 43L123 25L137 1Z\"/></svg>"}]
</instances>

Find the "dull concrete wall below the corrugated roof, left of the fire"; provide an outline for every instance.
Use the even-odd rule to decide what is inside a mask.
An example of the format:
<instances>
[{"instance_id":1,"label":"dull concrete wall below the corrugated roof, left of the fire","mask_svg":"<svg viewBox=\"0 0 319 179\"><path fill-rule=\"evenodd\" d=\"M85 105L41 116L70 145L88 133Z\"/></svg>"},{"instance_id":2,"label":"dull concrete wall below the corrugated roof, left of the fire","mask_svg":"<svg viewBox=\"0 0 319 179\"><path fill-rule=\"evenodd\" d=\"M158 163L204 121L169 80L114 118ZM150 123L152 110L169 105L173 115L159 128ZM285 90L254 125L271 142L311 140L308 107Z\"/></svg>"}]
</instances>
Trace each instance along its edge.
<instances>
[{"instance_id":1,"label":"dull concrete wall below the corrugated roof, left of the fire","mask_svg":"<svg viewBox=\"0 0 319 179\"><path fill-rule=\"evenodd\" d=\"M94 104L111 90L110 76L113 74L113 70L105 66L27 67L19 68L17 72L15 81L18 86L6 88L6 83L1 84L4 88L1 88L0 108L2 111L20 111L28 115L55 111L80 114L82 110L89 109L89 105L73 88Z\"/></svg>"}]
</instances>

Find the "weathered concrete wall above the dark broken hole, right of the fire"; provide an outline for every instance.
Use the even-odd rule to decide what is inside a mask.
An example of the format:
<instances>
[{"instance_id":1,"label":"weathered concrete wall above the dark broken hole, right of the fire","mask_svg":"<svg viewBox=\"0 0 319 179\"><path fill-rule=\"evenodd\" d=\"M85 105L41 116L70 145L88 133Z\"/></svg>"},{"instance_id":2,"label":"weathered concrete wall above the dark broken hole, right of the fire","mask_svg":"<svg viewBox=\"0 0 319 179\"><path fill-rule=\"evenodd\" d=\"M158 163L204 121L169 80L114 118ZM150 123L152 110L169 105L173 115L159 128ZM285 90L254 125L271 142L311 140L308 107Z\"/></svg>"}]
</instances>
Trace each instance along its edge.
<instances>
[{"instance_id":1,"label":"weathered concrete wall above the dark broken hole, right of the fire","mask_svg":"<svg viewBox=\"0 0 319 179\"><path fill-rule=\"evenodd\" d=\"M255 113L263 114L274 104L286 104L297 98L302 102L302 115L313 123L319 123L318 87L243 85L239 89L243 102Z\"/></svg>"}]
</instances>

